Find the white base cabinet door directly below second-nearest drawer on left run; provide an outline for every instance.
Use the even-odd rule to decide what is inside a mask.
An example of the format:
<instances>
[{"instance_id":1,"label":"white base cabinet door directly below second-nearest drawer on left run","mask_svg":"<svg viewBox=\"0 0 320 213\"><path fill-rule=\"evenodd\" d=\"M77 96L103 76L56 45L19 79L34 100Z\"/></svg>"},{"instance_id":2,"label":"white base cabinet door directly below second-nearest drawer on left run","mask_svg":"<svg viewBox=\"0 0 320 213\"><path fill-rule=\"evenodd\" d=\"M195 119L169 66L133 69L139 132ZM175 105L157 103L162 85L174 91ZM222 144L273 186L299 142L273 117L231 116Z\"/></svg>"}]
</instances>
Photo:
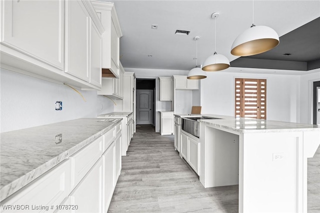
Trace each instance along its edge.
<instances>
[{"instance_id":1,"label":"white base cabinet door directly below second-nearest drawer on left run","mask_svg":"<svg viewBox=\"0 0 320 213\"><path fill-rule=\"evenodd\" d=\"M100 158L70 194L76 212L102 211L102 158Z\"/></svg>"}]
</instances>

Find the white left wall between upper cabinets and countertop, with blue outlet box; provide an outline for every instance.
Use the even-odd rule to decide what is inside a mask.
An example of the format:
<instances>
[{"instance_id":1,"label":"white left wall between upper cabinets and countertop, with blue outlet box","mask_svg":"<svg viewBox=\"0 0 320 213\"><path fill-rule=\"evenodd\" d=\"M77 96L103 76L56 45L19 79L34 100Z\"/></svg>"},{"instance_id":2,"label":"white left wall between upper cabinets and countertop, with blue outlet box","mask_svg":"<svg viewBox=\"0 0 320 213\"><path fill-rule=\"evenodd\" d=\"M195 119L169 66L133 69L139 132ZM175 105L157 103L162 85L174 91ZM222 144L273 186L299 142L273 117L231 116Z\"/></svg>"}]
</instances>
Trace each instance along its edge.
<instances>
[{"instance_id":1,"label":"white left wall between upper cabinets and countertop, with blue outlet box","mask_svg":"<svg viewBox=\"0 0 320 213\"><path fill-rule=\"evenodd\" d=\"M80 91L15 72L0 70L0 131L11 131L114 111L111 100L96 91ZM55 101L62 110L55 110ZM102 104L102 110L101 110Z\"/></svg>"}]
</instances>

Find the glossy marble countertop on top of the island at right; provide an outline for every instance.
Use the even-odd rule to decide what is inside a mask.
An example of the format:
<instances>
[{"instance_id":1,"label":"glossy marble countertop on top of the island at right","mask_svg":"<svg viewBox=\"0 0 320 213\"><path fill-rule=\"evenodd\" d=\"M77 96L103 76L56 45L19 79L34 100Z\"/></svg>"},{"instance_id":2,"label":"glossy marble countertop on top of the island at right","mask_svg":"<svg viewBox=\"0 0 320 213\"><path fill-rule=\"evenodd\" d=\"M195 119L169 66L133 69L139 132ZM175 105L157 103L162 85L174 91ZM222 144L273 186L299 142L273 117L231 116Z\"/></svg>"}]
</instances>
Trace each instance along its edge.
<instances>
[{"instance_id":1,"label":"glossy marble countertop on top of the island at right","mask_svg":"<svg viewBox=\"0 0 320 213\"><path fill-rule=\"evenodd\" d=\"M218 116L216 116L218 117ZM220 117L222 118L222 117ZM286 132L286 131L320 131L320 126L312 124L264 120L248 117L229 117L222 119L201 119L199 122L238 133Z\"/></svg>"}]
</instances>

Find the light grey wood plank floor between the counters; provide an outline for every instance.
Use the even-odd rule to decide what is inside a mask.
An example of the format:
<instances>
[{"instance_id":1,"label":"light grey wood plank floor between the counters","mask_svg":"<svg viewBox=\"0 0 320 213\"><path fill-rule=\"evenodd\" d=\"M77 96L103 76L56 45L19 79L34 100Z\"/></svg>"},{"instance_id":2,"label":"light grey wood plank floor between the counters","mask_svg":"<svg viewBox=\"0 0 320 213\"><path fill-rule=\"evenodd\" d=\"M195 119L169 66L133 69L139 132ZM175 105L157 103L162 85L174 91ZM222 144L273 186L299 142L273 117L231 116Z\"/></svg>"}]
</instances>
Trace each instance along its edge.
<instances>
[{"instance_id":1,"label":"light grey wood plank floor between the counters","mask_svg":"<svg viewBox=\"0 0 320 213\"><path fill-rule=\"evenodd\" d=\"M139 126L122 156L108 212L238 212L238 185L203 188L174 151L173 135ZM308 212L320 212L320 148L308 170Z\"/></svg>"}]
</instances>

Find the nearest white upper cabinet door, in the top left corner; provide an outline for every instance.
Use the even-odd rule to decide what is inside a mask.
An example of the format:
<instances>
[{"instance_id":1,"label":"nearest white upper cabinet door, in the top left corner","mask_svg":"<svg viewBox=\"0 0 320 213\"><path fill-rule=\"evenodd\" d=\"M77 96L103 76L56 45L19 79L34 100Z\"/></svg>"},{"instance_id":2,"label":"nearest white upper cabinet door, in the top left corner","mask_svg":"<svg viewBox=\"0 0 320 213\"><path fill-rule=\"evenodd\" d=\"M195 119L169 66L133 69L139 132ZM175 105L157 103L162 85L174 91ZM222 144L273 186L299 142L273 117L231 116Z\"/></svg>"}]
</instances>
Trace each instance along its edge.
<instances>
[{"instance_id":1,"label":"nearest white upper cabinet door, in the top left corner","mask_svg":"<svg viewBox=\"0 0 320 213\"><path fill-rule=\"evenodd\" d=\"M63 70L63 1L3 0L1 4L1 43Z\"/></svg>"}]
</instances>

